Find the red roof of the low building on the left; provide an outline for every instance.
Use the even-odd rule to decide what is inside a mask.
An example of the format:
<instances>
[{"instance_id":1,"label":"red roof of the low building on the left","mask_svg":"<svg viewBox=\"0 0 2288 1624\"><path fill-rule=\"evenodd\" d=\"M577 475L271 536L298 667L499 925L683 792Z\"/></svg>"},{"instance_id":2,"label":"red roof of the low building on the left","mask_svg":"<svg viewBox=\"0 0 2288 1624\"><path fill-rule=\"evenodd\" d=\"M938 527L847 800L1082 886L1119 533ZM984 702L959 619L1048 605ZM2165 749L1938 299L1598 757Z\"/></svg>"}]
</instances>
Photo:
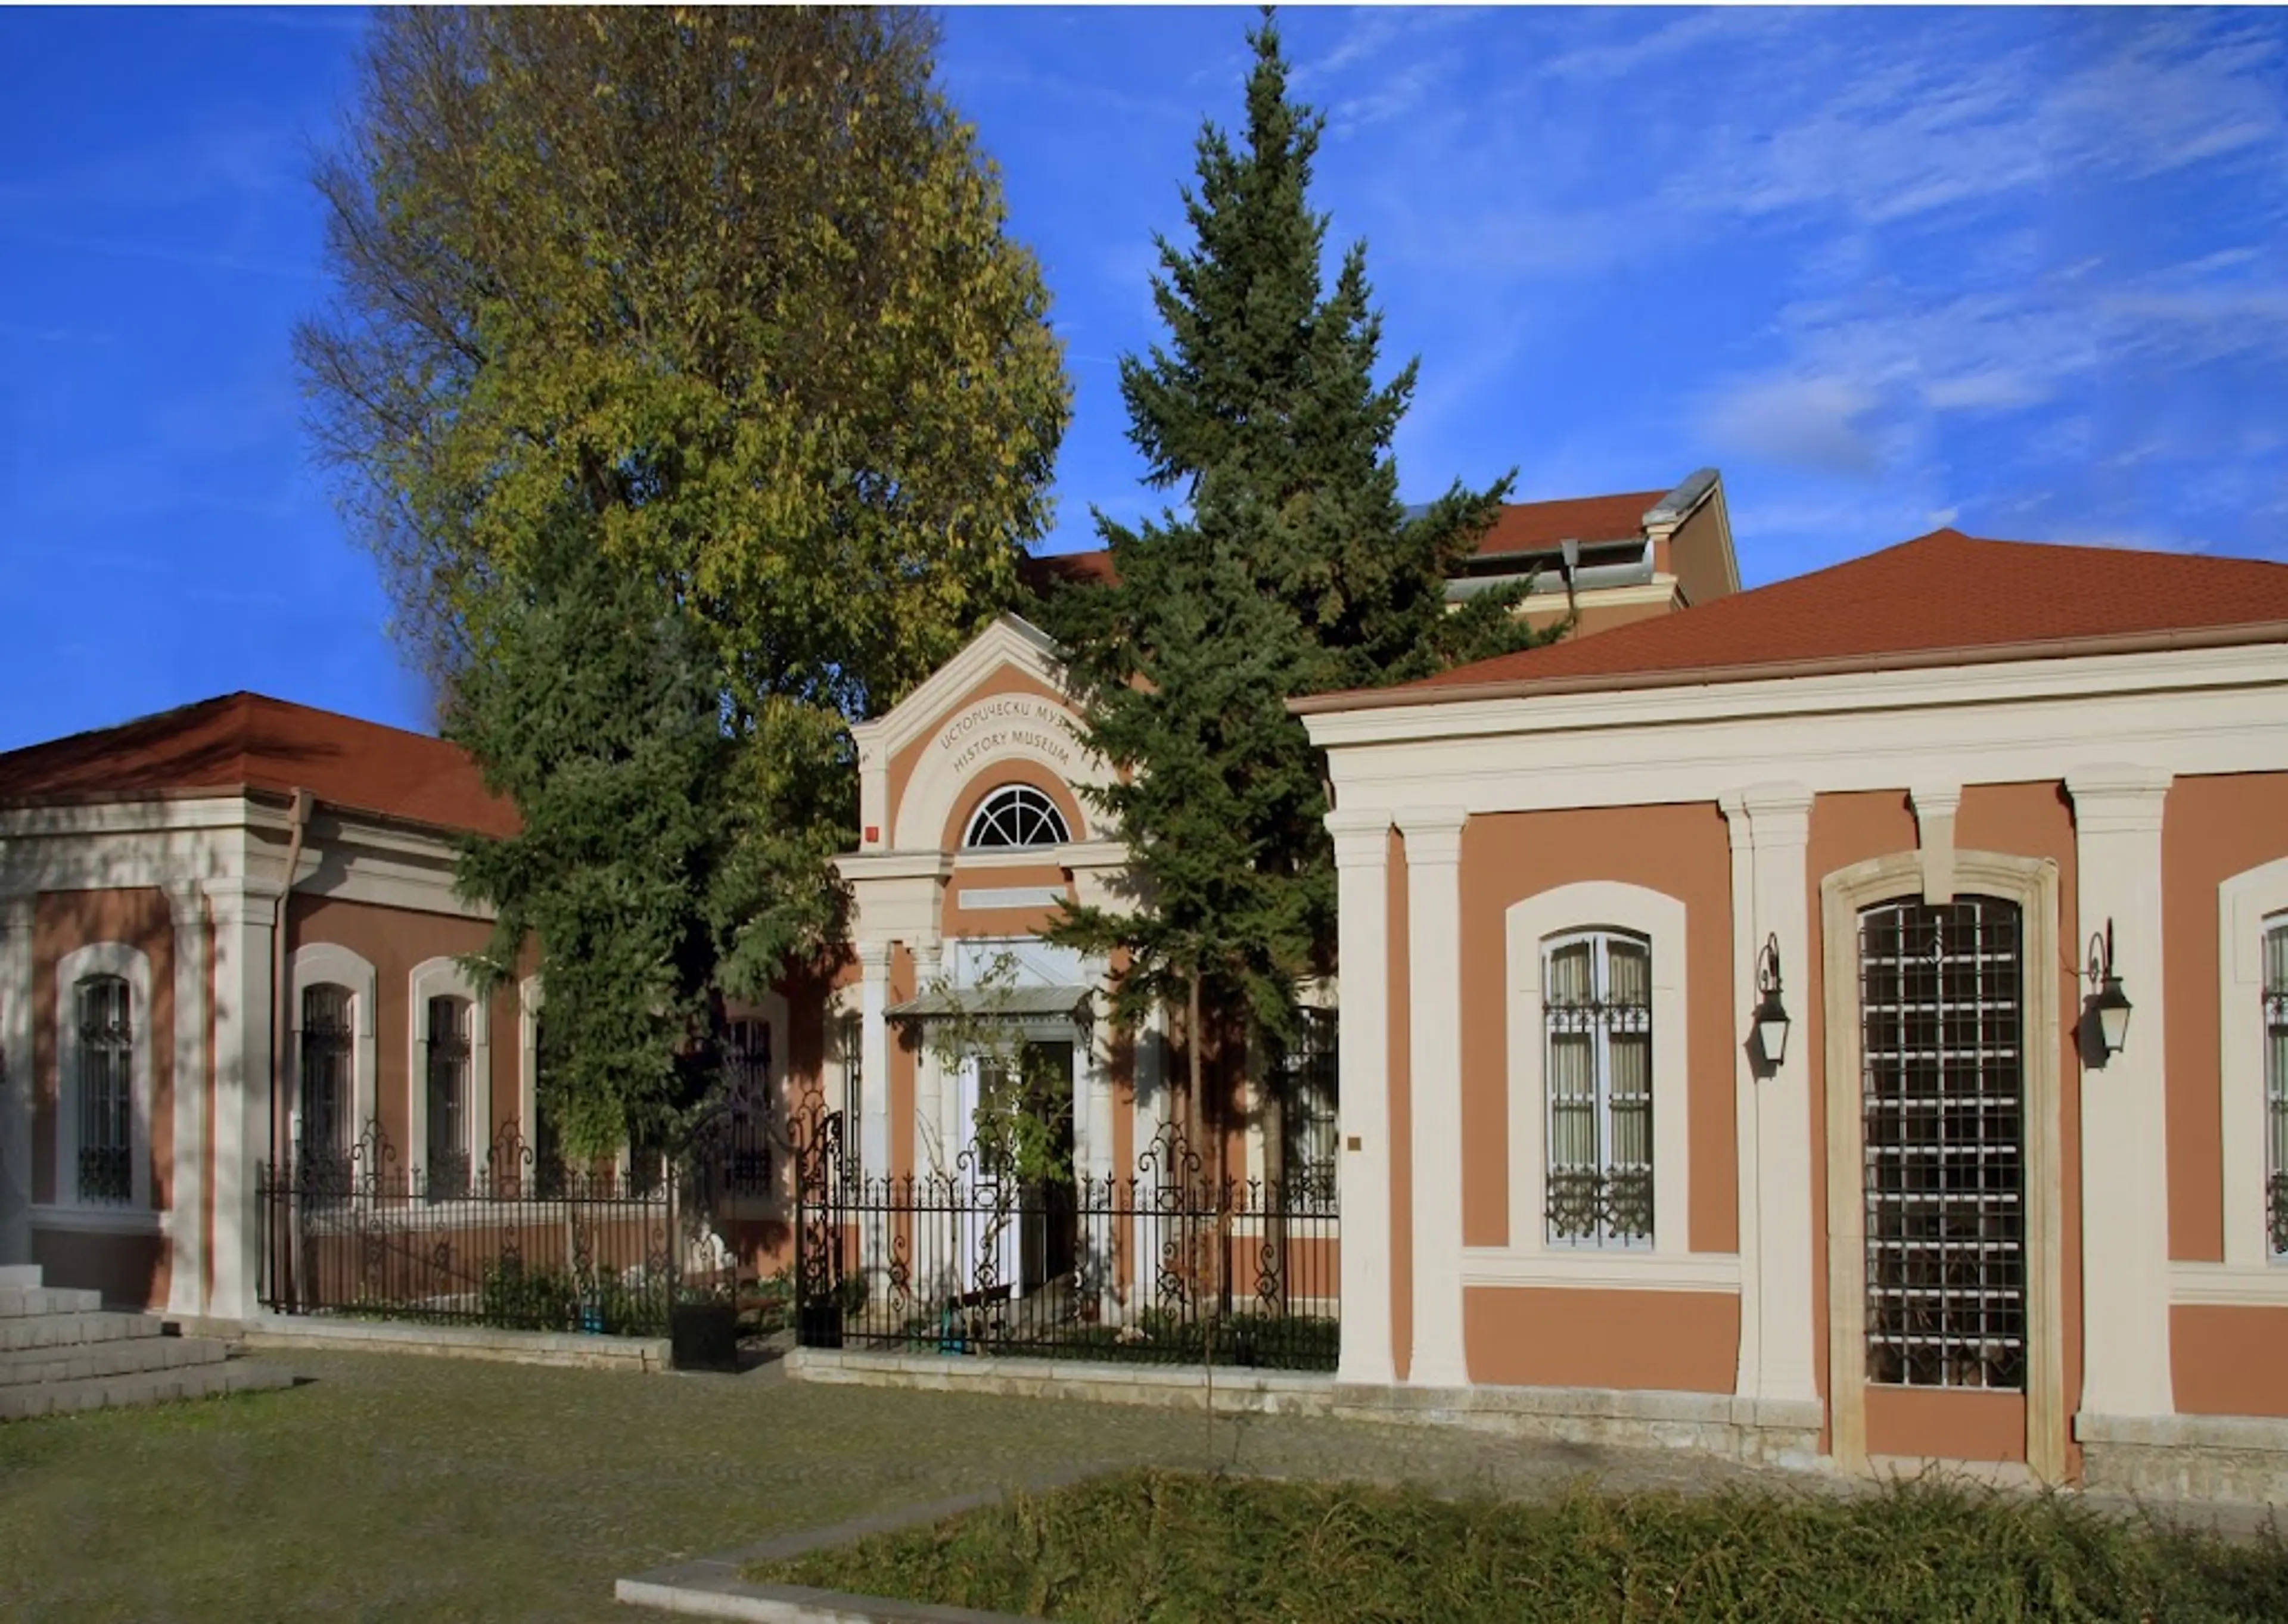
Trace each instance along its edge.
<instances>
[{"instance_id":1,"label":"red roof of the low building on the left","mask_svg":"<svg viewBox=\"0 0 2288 1624\"><path fill-rule=\"evenodd\" d=\"M261 693L227 693L0 755L0 803L247 789L307 789L332 807L483 835L517 828L515 807L485 794L458 743Z\"/></svg>"}]
</instances>

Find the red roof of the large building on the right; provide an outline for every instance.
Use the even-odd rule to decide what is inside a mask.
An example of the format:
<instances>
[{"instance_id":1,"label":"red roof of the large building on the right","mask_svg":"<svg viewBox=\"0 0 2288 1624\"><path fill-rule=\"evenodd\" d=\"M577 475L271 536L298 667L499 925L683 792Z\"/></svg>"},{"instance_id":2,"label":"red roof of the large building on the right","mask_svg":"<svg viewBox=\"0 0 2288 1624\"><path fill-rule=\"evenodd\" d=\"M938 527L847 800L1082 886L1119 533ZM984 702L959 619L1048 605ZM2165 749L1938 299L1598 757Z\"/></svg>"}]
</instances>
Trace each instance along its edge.
<instances>
[{"instance_id":1,"label":"red roof of the large building on the right","mask_svg":"<svg viewBox=\"0 0 2288 1624\"><path fill-rule=\"evenodd\" d=\"M2249 640L2288 640L2288 565L1933 531L1675 615L1396 688L1316 695L1297 709L1409 704L1506 684L1661 686L1789 668L1954 663L1947 656L1956 652L1963 661L2036 659L2103 638L2167 640L2233 627L2251 629Z\"/></svg>"}]
</instances>

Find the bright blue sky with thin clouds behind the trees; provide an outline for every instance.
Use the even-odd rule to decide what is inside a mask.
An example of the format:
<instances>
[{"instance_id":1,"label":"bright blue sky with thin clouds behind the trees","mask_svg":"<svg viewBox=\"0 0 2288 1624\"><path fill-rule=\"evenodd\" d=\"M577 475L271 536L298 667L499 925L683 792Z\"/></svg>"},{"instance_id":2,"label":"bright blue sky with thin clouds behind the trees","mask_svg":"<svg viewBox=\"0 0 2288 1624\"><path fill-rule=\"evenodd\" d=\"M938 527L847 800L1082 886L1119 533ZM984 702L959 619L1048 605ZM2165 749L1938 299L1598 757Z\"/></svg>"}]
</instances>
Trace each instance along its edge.
<instances>
[{"instance_id":1,"label":"bright blue sky with thin clouds behind the trees","mask_svg":"<svg viewBox=\"0 0 2288 1624\"><path fill-rule=\"evenodd\" d=\"M1249 11L975 9L1041 254L1052 549ZM2288 11L1295 9L1320 208L1421 357L1405 494L1725 473L1750 586L1938 524L2288 560ZM0 748L231 688L421 725L288 361L357 11L0 11Z\"/></svg>"}]
</instances>

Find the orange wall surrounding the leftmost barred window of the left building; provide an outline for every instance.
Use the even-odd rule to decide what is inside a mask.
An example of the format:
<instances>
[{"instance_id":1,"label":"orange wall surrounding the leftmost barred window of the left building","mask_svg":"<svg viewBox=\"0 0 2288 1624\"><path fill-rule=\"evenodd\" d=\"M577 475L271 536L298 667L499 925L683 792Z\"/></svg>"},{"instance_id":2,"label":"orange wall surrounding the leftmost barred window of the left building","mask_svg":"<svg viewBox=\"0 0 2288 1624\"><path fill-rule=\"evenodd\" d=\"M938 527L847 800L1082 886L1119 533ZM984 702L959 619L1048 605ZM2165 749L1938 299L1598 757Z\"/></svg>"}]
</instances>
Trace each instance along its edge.
<instances>
[{"instance_id":1,"label":"orange wall surrounding the leftmost barred window of the left building","mask_svg":"<svg viewBox=\"0 0 2288 1624\"><path fill-rule=\"evenodd\" d=\"M92 942L124 942L151 961L151 1006L130 1011L151 1050L151 1203L174 1194L174 915L160 890L41 892L32 906L32 1199L57 1201L71 1169L55 1164L55 1112L62 1098L57 1011L66 988L55 981L64 954ZM57 1279L55 1283L64 1283Z\"/></svg>"}]
</instances>

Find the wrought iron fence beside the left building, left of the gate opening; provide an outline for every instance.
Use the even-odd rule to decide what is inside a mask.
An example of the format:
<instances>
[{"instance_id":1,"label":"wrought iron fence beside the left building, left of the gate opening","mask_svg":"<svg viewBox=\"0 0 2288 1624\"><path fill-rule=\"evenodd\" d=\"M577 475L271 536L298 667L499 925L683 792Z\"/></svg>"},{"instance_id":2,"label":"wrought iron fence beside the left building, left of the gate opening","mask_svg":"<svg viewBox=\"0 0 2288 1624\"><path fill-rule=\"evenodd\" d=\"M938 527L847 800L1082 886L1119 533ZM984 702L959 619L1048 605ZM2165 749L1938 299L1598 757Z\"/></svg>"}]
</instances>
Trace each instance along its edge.
<instances>
[{"instance_id":1,"label":"wrought iron fence beside the left building, left of the gate opening","mask_svg":"<svg viewBox=\"0 0 2288 1624\"><path fill-rule=\"evenodd\" d=\"M275 1313L668 1331L673 1187L538 1157L515 1128L432 1178L368 1123L348 1155L263 1164L256 1192Z\"/></svg>"}]
</instances>

